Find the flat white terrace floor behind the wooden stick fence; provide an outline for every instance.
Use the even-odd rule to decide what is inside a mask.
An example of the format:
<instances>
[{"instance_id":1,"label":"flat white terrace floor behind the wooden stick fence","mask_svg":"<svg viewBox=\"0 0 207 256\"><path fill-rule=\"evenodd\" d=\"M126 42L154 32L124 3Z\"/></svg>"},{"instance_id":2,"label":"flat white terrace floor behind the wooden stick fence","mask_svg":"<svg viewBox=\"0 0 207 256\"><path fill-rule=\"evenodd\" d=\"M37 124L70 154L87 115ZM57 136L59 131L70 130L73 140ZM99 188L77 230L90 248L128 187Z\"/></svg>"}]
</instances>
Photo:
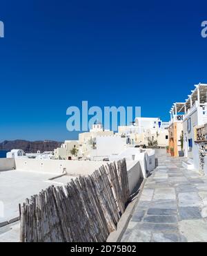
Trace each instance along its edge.
<instances>
[{"instance_id":1,"label":"flat white terrace floor behind the wooden stick fence","mask_svg":"<svg viewBox=\"0 0 207 256\"><path fill-rule=\"evenodd\" d=\"M0 242L19 241L19 221L5 226L5 221L19 217L19 203L50 185L64 185L75 176L61 176L21 170L0 172ZM3 209L2 209L3 205Z\"/></svg>"}]
</instances>

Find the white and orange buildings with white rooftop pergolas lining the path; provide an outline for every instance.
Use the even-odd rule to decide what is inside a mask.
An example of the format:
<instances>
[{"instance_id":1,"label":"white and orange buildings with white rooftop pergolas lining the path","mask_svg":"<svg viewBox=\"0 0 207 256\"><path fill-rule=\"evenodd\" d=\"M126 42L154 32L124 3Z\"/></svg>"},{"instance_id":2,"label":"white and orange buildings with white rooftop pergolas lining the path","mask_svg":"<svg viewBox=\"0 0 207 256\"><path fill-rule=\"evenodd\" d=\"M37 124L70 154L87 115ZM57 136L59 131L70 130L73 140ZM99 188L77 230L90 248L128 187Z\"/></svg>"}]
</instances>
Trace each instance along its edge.
<instances>
[{"instance_id":1,"label":"white and orange buildings with white rooftop pergolas lining the path","mask_svg":"<svg viewBox=\"0 0 207 256\"><path fill-rule=\"evenodd\" d=\"M184 151L184 156L188 160L184 161L183 165L187 169L204 168L201 158L207 153L203 147L207 138L204 136L198 140L197 129L204 128L206 123L207 84L199 83L195 84L195 89L191 91L185 102L174 103L170 109L169 147L174 147L174 156L178 155L176 152Z\"/></svg>"}]
</instances>

